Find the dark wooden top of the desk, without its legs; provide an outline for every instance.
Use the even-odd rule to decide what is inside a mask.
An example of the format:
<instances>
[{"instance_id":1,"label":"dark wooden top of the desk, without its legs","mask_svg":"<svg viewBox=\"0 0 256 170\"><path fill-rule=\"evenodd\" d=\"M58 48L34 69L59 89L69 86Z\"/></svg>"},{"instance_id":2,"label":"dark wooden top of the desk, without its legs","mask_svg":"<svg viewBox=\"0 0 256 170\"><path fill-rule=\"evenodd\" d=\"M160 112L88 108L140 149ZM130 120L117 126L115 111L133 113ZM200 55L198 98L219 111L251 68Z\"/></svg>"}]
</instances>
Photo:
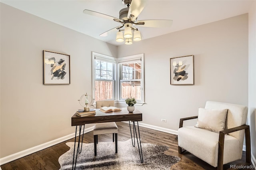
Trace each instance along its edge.
<instances>
[{"instance_id":1,"label":"dark wooden top of the desk, without its legs","mask_svg":"<svg viewBox=\"0 0 256 170\"><path fill-rule=\"evenodd\" d=\"M132 113L127 108L120 108L122 111L103 113L96 110L95 115L79 117L76 113L71 117L71 126L78 126L90 123L120 122L120 121L142 121L142 113L135 109Z\"/></svg>"}]
</instances>

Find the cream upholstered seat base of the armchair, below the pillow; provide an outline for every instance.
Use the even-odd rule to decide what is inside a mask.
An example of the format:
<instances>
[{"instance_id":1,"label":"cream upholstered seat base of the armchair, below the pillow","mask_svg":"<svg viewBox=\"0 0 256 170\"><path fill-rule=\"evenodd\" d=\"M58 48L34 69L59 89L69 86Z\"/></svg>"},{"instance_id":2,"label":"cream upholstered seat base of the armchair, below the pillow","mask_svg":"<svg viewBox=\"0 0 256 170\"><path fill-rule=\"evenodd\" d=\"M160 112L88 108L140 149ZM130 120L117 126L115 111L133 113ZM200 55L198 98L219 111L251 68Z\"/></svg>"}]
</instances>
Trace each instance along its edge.
<instances>
[{"instance_id":1,"label":"cream upholstered seat base of the armchair, below the pillow","mask_svg":"<svg viewBox=\"0 0 256 170\"><path fill-rule=\"evenodd\" d=\"M204 160L208 164L218 166L218 142L219 133L196 127L182 127L178 129L179 146ZM240 141L230 135L224 138L224 160L227 164L242 158L239 149Z\"/></svg>"}]
</instances>

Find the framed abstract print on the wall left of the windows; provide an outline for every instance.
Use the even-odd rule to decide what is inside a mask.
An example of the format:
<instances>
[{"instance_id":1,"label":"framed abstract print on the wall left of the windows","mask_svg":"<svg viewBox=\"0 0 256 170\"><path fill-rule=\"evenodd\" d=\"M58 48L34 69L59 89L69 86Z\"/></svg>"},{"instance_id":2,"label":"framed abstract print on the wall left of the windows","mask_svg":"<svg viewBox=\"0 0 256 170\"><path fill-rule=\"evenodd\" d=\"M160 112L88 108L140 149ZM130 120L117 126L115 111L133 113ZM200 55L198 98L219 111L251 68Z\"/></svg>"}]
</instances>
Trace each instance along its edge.
<instances>
[{"instance_id":1,"label":"framed abstract print on the wall left of the windows","mask_svg":"<svg viewBox=\"0 0 256 170\"><path fill-rule=\"evenodd\" d=\"M70 55L43 51L44 85L70 84Z\"/></svg>"}]
</instances>

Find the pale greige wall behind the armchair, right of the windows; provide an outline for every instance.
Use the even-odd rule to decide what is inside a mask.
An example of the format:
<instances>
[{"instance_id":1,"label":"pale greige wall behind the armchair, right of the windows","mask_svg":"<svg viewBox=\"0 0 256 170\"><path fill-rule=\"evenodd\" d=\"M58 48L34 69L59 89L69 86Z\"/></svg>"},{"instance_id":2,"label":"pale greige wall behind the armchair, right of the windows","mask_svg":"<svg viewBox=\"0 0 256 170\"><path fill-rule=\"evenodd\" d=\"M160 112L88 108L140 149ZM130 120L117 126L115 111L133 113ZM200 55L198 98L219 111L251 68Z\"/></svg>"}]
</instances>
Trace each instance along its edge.
<instances>
[{"instance_id":1,"label":"pale greige wall behind the armchair, right of the windows","mask_svg":"<svg viewBox=\"0 0 256 170\"><path fill-rule=\"evenodd\" d=\"M248 14L118 47L118 57L139 53L143 123L178 130L180 118L197 115L208 100L248 105ZM170 58L186 55L194 55L194 85L170 85Z\"/></svg>"}]
</instances>

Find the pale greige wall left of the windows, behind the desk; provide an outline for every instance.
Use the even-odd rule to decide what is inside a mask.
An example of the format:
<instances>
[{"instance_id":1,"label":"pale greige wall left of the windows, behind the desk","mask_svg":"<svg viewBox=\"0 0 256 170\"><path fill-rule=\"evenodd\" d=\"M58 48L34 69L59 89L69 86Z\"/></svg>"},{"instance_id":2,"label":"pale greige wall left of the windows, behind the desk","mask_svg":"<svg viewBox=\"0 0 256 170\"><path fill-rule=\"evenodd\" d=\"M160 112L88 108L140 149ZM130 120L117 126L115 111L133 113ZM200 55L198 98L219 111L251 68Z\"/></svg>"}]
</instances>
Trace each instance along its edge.
<instances>
[{"instance_id":1,"label":"pale greige wall left of the windows, behind the desk","mask_svg":"<svg viewBox=\"0 0 256 170\"><path fill-rule=\"evenodd\" d=\"M0 157L72 134L78 99L92 94L92 51L117 47L0 4ZM70 85L43 85L43 50L70 55Z\"/></svg>"}]
</instances>

